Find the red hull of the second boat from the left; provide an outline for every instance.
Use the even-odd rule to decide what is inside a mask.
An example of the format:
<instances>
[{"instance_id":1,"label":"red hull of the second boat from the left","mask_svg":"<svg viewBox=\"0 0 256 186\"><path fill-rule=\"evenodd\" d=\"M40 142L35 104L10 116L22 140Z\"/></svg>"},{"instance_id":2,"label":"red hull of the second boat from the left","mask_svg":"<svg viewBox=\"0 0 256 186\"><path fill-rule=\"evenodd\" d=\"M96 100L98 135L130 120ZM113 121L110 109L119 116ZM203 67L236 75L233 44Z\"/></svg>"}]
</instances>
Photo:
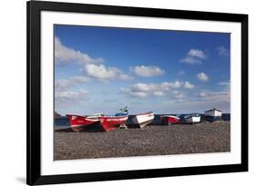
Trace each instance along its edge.
<instances>
[{"instance_id":1,"label":"red hull of the second boat from the left","mask_svg":"<svg viewBox=\"0 0 256 186\"><path fill-rule=\"evenodd\" d=\"M121 124L124 124L128 120L128 115L124 116L100 116L99 121L105 131L113 131L117 129Z\"/></svg>"}]
</instances>

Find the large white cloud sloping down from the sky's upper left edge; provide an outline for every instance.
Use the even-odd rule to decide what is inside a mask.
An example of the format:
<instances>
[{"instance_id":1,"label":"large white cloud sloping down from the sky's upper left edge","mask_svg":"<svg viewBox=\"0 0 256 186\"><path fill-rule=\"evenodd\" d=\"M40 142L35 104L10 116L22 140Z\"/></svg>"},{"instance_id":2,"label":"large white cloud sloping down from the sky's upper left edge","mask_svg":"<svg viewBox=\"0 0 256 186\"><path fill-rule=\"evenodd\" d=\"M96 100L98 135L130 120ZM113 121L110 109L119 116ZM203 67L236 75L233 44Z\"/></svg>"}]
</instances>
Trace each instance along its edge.
<instances>
[{"instance_id":1,"label":"large white cloud sloping down from the sky's upper left edge","mask_svg":"<svg viewBox=\"0 0 256 186\"><path fill-rule=\"evenodd\" d=\"M73 62L78 64L99 64L104 62L102 58L92 58L88 54L68 48L57 37L55 37L55 57L56 64L70 64Z\"/></svg>"}]
</instances>

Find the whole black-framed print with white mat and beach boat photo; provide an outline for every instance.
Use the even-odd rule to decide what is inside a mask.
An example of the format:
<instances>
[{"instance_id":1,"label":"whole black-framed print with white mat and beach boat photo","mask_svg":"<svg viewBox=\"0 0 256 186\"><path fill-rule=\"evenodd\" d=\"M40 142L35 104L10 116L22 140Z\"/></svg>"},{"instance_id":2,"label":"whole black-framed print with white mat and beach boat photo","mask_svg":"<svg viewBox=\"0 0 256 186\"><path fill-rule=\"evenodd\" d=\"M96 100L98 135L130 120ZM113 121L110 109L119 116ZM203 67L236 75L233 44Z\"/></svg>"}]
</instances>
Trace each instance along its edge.
<instances>
[{"instance_id":1,"label":"whole black-framed print with white mat and beach boat photo","mask_svg":"<svg viewBox=\"0 0 256 186\"><path fill-rule=\"evenodd\" d=\"M248 15L27 2L27 184L248 171Z\"/></svg>"}]
</instances>

